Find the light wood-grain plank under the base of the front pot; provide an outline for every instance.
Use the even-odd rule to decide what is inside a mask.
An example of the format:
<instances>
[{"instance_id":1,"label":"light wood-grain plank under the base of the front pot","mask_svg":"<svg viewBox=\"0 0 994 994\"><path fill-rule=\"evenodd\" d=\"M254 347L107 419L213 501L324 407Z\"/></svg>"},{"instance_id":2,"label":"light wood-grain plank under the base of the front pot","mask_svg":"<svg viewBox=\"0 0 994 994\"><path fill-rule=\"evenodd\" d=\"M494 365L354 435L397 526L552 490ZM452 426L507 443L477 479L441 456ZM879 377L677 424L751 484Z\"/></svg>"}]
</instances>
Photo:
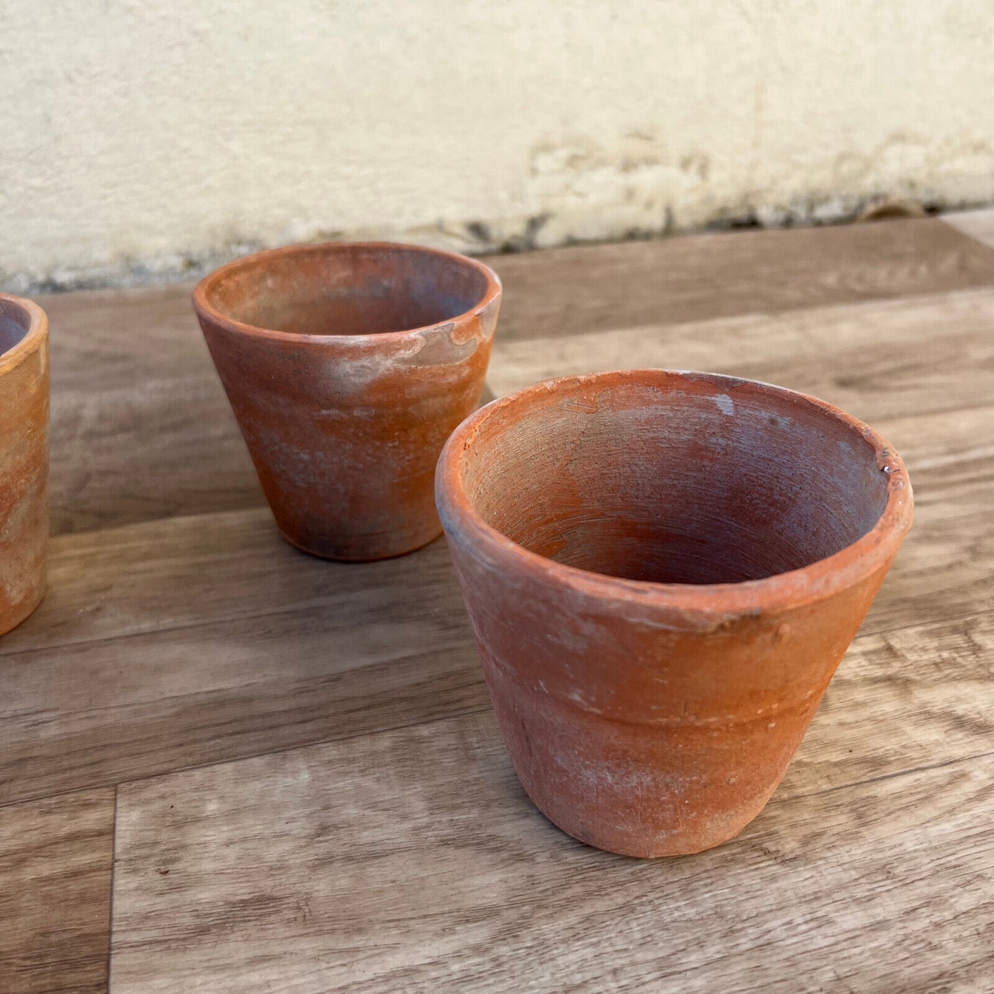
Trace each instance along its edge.
<instances>
[{"instance_id":1,"label":"light wood-grain plank under the base of the front pot","mask_svg":"<svg viewBox=\"0 0 994 994\"><path fill-rule=\"evenodd\" d=\"M127 784L113 990L985 990L994 762L812 787L649 862L545 821L489 714Z\"/></svg>"}]
</instances>

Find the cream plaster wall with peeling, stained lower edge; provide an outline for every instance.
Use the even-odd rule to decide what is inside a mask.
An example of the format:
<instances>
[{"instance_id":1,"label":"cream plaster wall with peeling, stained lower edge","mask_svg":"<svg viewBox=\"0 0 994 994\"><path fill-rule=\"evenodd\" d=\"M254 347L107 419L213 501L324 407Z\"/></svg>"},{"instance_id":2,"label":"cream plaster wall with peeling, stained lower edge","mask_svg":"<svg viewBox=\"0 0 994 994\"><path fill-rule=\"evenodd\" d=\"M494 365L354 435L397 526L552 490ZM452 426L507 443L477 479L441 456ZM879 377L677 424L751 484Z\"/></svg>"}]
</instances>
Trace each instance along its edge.
<instances>
[{"instance_id":1,"label":"cream plaster wall with peeling, stained lower edge","mask_svg":"<svg viewBox=\"0 0 994 994\"><path fill-rule=\"evenodd\" d=\"M994 201L988 0L2 0L0 283Z\"/></svg>"}]
</instances>

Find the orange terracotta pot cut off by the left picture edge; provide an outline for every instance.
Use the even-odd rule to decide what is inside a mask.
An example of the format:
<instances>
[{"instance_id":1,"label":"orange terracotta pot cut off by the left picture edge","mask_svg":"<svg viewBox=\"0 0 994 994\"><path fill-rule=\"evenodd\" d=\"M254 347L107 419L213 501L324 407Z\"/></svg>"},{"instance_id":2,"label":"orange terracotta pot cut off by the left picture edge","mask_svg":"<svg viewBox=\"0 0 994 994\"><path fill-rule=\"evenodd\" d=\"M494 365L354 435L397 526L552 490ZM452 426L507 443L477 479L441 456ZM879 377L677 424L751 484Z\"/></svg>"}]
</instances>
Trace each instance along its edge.
<instances>
[{"instance_id":1,"label":"orange terracotta pot cut off by the left picture edge","mask_svg":"<svg viewBox=\"0 0 994 994\"><path fill-rule=\"evenodd\" d=\"M45 596L49 319L0 293L0 635Z\"/></svg>"}]
</instances>

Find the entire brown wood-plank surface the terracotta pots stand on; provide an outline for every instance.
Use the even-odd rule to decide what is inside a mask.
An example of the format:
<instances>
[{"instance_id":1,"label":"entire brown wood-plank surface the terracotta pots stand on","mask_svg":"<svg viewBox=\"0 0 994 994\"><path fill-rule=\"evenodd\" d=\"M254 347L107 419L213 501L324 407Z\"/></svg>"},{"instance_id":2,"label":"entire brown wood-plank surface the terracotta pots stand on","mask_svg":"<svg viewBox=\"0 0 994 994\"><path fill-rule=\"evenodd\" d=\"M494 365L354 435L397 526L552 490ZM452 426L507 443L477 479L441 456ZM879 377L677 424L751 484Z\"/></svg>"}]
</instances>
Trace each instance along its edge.
<instances>
[{"instance_id":1,"label":"entire brown wood-plank surface the terracotta pots stand on","mask_svg":"<svg viewBox=\"0 0 994 994\"><path fill-rule=\"evenodd\" d=\"M0 991L994 991L994 212L492 259L489 384L704 369L869 421L916 522L735 841L529 803L443 542L280 540L188 285L41 299L50 590L0 641Z\"/></svg>"}]
</instances>

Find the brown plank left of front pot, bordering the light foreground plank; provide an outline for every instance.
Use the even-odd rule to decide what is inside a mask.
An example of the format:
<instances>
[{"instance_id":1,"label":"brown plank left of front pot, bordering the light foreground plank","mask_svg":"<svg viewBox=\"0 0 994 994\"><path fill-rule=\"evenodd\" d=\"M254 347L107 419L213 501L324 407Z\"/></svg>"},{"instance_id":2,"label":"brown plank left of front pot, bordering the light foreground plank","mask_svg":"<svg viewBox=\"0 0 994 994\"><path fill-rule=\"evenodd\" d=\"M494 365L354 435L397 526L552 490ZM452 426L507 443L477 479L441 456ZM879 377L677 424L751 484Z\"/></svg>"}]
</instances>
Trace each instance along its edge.
<instances>
[{"instance_id":1,"label":"brown plank left of front pot, bordering the light foreground plank","mask_svg":"<svg viewBox=\"0 0 994 994\"><path fill-rule=\"evenodd\" d=\"M5 657L0 803L484 710L447 592L447 619L318 607Z\"/></svg>"}]
</instances>

